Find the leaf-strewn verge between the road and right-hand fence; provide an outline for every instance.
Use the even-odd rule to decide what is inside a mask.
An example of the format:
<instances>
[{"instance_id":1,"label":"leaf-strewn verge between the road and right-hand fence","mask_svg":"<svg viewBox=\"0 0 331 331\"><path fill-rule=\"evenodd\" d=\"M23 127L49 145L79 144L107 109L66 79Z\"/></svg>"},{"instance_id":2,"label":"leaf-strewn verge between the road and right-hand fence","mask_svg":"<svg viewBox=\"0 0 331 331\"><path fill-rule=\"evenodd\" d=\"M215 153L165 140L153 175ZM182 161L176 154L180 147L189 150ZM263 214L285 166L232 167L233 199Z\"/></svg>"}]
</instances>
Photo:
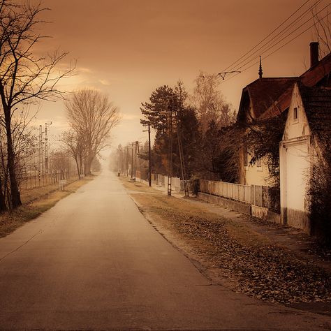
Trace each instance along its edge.
<instances>
[{"instance_id":1,"label":"leaf-strewn verge between the road and right-hand fence","mask_svg":"<svg viewBox=\"0 0 331 331\"><path fill-rule=\"evenodd\" d=\"M221 217L189 200L164 194L140 191L131 196L154 227L198 261L212 279L270 302L330 301L330 273L272 243L240 217Z\"/></svg>"}]
</instances>

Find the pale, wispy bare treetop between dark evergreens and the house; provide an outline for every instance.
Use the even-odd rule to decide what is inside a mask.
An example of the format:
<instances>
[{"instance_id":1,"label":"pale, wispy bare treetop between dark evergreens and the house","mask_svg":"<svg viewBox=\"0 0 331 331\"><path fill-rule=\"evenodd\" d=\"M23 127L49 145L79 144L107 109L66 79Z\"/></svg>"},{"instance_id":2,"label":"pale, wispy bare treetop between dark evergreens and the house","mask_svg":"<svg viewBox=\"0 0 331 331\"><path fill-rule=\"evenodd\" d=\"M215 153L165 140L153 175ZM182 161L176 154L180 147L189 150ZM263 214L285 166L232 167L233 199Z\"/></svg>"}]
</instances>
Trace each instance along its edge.
<instances>
[{"instance_id":1,"label":"pale, wispy bare treetop between dark evergreens and the house","mask_svg":"<svg viewBox=\"0 0 331 331\"><path fill-rule=\"evenodd\" d=\"M219 75L200 72L190 100L198 112L200 131L203 135L212 121L218 128L235 122L234 110L219 91Z\"/></svg>"}]
</instances>

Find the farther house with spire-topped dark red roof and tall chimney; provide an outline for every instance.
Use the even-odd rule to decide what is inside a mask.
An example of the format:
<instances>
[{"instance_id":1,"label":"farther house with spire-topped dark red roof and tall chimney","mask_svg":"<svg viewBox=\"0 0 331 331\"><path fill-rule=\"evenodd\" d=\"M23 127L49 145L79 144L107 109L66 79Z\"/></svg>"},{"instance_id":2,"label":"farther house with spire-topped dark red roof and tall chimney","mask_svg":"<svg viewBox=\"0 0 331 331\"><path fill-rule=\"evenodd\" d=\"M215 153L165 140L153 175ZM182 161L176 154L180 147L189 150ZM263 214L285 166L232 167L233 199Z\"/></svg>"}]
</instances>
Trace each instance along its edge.
<instances>
[{"instance_id":1,"label":"farther house with spire-topped dark red roof and tall chimney","mask_svg":"<svg viewBox=\"0 0 331 331\"><path fill-rule=\"evenodd\" d=\"M318 61L318 43L310 44L311 66L299 77L263 78L260 68L258 80L244 87L240 108L237 115L237 124L246 125L254 120L263 120L286 114L293 96L295 84L306 87L331 86L331 54ZM247 146L240 151L240 184L255 184L269 186L270 172L267 160L251 162L253 152Z\"/></svg>"}]
</instances>

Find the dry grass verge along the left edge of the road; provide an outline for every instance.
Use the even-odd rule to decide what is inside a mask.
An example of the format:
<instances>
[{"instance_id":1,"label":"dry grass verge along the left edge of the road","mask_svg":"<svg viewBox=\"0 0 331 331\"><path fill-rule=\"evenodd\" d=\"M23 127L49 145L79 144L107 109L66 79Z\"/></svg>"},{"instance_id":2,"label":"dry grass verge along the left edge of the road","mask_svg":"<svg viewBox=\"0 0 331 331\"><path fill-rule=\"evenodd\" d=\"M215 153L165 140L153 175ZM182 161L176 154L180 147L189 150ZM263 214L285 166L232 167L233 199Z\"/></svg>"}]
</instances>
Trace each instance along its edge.
<instances>
[{"instance_id":1,"label":"dry grass verge along the left edge of the road","mask_svg":"<svg viewBox=\"0 0 331 331\"><path fill-rule=\"evenodd\" d=\"M59 184L41 186L34 189L22 190L22 206L0 214L0 237L6 237L14 230L36 219L46 210L52 208L59 200L75 192L80 186L94 179L94 176L84 177L84 180L68 179L63 191L59 191Z\"/></svg>"}]
</instances>

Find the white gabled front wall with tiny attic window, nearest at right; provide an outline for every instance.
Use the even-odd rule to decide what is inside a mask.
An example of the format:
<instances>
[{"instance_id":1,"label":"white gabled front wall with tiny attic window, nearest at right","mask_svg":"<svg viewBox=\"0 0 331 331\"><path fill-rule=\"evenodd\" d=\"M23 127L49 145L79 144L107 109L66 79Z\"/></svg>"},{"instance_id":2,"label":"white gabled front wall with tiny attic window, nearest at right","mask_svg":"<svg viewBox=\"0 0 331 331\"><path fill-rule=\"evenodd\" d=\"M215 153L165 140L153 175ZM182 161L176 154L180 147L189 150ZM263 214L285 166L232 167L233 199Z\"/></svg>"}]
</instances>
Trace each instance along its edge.
<instances>
[{"instance_id":1,"label":"white gabled front wall with tiny attic window, nearest at right","mask_svg":"<svg viewBox=\"0 0 331 331\"><path fill-rule=\"evenodd\" d=\"M297 118L294 116L297 109ZM307 189L310 179L310 129L297 86L288 110L288 118L280 144L281 220L309 232Z\"/></svg>"}]
</instances>

